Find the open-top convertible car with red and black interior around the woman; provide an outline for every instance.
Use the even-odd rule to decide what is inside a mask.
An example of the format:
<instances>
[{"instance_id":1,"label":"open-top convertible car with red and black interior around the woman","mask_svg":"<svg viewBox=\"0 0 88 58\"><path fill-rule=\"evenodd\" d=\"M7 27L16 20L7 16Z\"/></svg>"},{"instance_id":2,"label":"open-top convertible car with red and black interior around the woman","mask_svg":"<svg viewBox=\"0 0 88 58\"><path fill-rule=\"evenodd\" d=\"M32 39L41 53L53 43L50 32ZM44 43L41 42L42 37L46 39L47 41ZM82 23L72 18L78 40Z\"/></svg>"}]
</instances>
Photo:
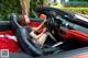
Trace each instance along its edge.
<instances>
[{"instance_id":1,"label":"open-top convertible car with red and black interior around the woman","mask_svg":"<svg viewBox=\"0 0 88 58\"><path fill-rule=\"evenodd\" d=\"M28 28L18 23L18 14L10 14L10 21L0 21L0 49L9 49L10 58L88 57L87 18L55 8L38 8L35 12L47 16L45 26L51 35L43 47L30 39ZM43 21L31 18L29 26L37 27Z\"/></svg>"}]
</instances>

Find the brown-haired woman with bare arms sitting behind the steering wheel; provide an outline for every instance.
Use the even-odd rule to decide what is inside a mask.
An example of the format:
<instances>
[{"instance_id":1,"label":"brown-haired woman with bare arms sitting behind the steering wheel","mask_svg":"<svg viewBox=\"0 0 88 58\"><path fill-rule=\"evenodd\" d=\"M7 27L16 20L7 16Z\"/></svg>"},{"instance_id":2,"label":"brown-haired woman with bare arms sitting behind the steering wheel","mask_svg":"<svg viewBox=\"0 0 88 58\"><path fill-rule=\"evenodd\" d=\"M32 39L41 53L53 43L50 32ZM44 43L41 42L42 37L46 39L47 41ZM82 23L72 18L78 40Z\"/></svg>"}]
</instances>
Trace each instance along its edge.
<instances>
[{"instance_id":1,"label":"brown-haired woman with bare arms sitting behind the steering wheel","mask_svg":"<svg viewBox=\"0 0 88 58\"><path fill-rule=\"evenodd\" d=\"M28 23L30 23L30 19L26 15L19 15L19 24L22 26L26 26L30 36L36 39L42 46L44 45L47 37L46 27L44 27L43 32L38 35L35 32L37 32L44 25L45 22L46 20L44 20L44 22L42 22L38 27L31 27L31 26L28 26Z\"/></svg>"}]
</instances>

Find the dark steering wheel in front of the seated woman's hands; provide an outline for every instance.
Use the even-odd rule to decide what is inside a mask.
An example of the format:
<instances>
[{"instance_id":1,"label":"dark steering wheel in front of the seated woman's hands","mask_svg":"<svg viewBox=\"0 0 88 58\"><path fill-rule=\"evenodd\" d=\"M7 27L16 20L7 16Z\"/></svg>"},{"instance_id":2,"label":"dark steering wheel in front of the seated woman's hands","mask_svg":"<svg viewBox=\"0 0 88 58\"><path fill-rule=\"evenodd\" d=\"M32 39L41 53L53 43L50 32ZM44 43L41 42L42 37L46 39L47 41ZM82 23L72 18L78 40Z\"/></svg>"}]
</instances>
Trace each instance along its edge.
<instances>
[{"instance_id":1,"label":"dark steering wheel in front of the seated woman's hands","mask_svg":"<svg viewBox=\"0 0 88 58\"><path fill-rule=\"evenodd\" d=\"M57 22L55 18L48 16L45 25L51 34L53 34L52 31L54 32L55 35L57 34L59 28L59 22Z\"/></svg>"}]
</instances>

